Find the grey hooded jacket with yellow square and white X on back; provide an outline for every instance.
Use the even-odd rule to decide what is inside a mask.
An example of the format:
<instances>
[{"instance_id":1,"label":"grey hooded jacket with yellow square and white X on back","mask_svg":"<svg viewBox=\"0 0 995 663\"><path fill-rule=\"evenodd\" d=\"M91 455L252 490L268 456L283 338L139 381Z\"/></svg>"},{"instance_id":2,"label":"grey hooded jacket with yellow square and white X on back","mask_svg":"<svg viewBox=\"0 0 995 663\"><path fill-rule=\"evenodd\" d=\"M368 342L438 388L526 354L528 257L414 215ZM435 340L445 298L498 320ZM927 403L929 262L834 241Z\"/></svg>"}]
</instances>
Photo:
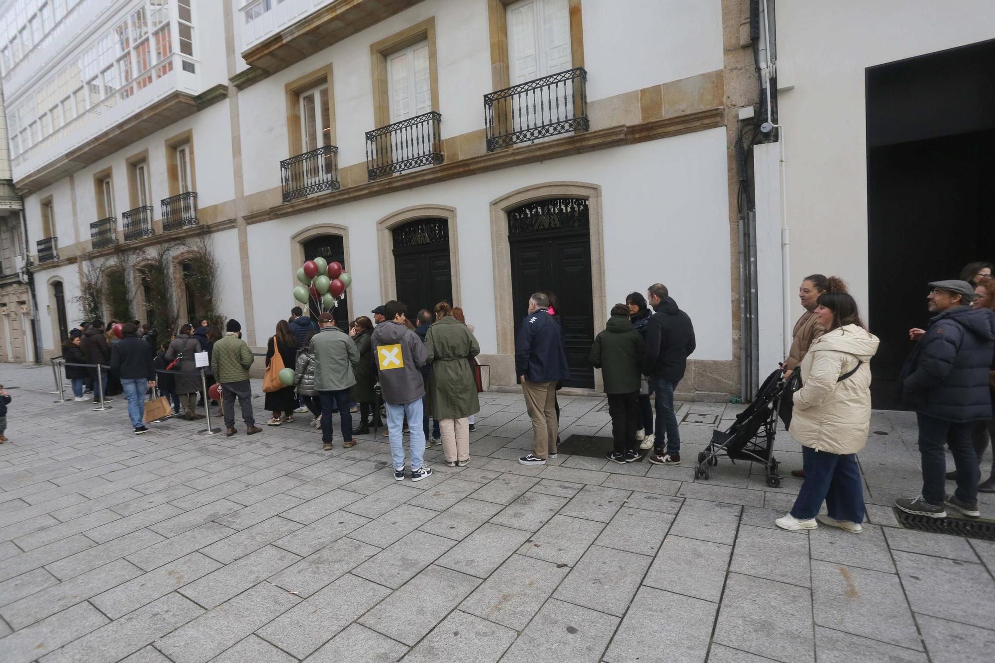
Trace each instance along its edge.
<instances>
[{"instance_id":1,"label":"grey hooded jacket with yellow square and white X on back","mask_svg":"<svg viewBox=\"0 0 995 663\"><path fill-rule=\"evenodd\" d=\"M428 352L417 333L387 321L376 326L370 342L385 402L403 405L425 395L421 368Z\"/></svg>"}]
</instances>

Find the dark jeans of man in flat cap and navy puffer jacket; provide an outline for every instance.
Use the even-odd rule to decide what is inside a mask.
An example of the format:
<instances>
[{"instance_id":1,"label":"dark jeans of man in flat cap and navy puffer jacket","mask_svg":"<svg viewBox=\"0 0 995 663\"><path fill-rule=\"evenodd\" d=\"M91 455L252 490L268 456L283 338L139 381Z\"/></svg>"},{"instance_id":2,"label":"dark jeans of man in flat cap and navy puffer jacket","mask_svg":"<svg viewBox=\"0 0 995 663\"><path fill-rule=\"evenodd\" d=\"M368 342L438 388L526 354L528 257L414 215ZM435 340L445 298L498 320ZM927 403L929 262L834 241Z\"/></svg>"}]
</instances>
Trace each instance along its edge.
<instances>
[{"instance_id":1,"label":"dark jeans of man in flat cap and navy puffer jacket","mask_svg":"<svg viewBox=\"0 0 995 663\"><path fill-rule=\"evenodd\" d=\"M919 456L922 463L922 499L931 505L943 504L946 488L946 457L943 447L949 445L953 466L957 470L957 490L954 496L968 504L978 501L978 455L971 444L973 421L955 423L925 414L916 414L919 424Z\"/></svg>"}]
</instances>

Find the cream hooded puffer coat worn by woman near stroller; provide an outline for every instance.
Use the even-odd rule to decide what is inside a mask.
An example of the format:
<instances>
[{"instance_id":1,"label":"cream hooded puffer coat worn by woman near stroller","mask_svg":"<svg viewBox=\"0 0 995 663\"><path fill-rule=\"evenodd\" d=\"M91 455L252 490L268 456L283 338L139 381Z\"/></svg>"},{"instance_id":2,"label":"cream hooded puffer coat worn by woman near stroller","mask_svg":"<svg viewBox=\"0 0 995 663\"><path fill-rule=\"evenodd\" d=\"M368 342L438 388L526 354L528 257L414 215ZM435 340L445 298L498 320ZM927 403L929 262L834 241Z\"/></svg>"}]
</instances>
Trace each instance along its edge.
<instances>
[{"instance_id":1,"label":"cream hooded puffer coat worn by woman near stroller","mask_svg":"<svg viewBox=\"0 0 995 663\"><path fill-rule=\"evenodd\" d=\"M856 325L827 331L802 359L802 388L794 394L791 437L818 451L856 454L871 432L871 357L878 337ZM853 375L837 382L857 367Z\"/></svg>"}]
</instances>

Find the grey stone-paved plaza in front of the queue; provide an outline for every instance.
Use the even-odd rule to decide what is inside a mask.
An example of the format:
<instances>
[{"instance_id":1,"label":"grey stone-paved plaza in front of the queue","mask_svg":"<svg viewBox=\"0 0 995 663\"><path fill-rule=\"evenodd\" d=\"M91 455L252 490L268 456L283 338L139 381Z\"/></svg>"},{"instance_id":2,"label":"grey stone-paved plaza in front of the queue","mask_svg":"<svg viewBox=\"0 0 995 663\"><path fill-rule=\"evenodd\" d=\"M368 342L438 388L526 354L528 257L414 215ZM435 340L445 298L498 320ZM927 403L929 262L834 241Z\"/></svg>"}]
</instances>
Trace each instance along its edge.
<instances>
[{"instance_id":1,"label":"grey stone-paved plaza in front of the queue","mask_svg":"<svg viewBox=\"0 0 995 663\"><path fill-rule=\"evenodd\" d=\"M433 476L401 483L385 438L343 450L336 426L323 452L306 415L254 437L184 420L135 436L120 396L103 412L53 403L49 367L0 364L0 382L16 387L0 446L3 663L995 655L995 543L898 529L889 506L919 487L906 413L874 415L871 524L855 536L774 527L800 484L786 433L780 488L725 460L695 481L697 452L741 405L684 404L679 467L522 467L524 402L486 393L471 465L433 447ZM605 402L561 397L563 435L608 435Z\"/></svg>"}]
</instances>

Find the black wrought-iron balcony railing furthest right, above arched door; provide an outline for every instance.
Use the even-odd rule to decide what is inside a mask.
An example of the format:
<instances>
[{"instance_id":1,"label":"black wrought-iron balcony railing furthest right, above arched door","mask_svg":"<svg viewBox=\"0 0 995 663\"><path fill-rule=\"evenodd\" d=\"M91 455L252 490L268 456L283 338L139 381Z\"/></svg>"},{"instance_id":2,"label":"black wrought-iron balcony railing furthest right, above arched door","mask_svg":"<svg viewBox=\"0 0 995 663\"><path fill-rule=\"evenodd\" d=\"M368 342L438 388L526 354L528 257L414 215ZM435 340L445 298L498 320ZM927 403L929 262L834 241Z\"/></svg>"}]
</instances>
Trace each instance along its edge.
<instances>
[{"instance_id":1,"label":"black wrought-iron balcony railing furthest right, above arched door","mask_svg":"<svg viewBox=\"0 0 995 663\"><path fill-rule=\"evenodd\" d=\"M587 72L582 67L484 96L488 151L557 133L586 131Z\"/></svg>"}]
</instances>

